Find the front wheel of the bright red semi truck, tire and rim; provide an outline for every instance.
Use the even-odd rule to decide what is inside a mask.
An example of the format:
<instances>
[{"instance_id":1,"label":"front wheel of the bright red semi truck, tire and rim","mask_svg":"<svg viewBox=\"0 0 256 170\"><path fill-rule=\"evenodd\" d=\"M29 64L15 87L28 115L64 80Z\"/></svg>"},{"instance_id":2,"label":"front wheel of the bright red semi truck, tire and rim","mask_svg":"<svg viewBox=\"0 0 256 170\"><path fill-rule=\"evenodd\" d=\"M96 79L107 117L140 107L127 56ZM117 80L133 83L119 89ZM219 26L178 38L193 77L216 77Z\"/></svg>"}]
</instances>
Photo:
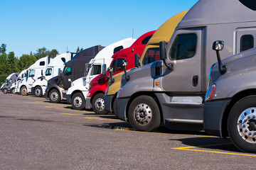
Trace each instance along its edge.
<instances>
[{"instance_id":1,"label":"front wheel of the bright red semi truck, tire and rim","mask_svg":"<svg viewBox=\"0 0 256 170\"><path fill-rule=\"evenodd\" d=\"M92 110L97 115L106 115L107 111L105 110L105 101L104 101L104 94L96 94L92 98Z\"/></svg>"}]
</instances>

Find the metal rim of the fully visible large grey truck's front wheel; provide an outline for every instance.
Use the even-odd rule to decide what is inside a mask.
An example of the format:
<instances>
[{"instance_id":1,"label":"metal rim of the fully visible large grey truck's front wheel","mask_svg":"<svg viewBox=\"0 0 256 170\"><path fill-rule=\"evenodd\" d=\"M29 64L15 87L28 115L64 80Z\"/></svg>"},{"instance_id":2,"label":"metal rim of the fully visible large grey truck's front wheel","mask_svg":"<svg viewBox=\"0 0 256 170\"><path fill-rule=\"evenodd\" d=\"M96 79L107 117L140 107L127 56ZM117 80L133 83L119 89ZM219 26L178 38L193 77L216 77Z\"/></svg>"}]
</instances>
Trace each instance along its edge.
<instances>
[{"instance_id":1,"label":"metal rim of the fully visible large grey truck's front wheel","mask_svg":"<svg viewBox=\"0 0 256 170\"><path fill-rule=\"evenodd\" d=\"M134 119L139 125L147 125L151 121L152 111L151 108L141 103L134 109Z\"/></svg>"}]
</instances>

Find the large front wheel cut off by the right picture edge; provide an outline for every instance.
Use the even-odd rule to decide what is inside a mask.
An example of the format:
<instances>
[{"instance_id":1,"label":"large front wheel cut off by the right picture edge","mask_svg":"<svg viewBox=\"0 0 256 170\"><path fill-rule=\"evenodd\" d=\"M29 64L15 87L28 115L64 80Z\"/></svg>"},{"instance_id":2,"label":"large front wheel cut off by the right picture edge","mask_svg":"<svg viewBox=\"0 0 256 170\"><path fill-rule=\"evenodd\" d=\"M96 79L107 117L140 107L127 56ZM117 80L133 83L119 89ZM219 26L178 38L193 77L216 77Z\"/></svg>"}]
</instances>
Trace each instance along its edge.
<instances>
[{"instance_id":1,"label":"large front wheel cut off by the right picture edge","mask_svg":"<svg viewBox=\"0 0 256 170\"><path fill-rule=\"evenodd\" d=\"M228 115L228 134L242 152L256 152L256 96L235 103Z\"/></svg>"}]
</instances>

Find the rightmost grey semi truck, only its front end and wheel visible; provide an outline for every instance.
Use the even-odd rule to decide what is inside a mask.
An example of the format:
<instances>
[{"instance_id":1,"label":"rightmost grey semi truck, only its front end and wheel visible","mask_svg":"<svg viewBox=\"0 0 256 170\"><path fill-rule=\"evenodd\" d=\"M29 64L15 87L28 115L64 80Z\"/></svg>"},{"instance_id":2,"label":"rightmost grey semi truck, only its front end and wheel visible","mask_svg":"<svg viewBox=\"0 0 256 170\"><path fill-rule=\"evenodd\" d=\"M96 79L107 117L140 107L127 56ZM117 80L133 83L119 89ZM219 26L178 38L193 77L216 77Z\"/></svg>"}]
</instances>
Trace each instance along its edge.
<instances>
[{"instance_id":1,"label":"rightmost grey semi truck, only its front end and wheel visible","mask_svg":"<svg viewBox=\"0 0 256 170\"><path fill-rule=\"evenodd\" d=\"M248 41L252 47L254 40ZM220 60L224 42L213 50L218 62L209 74L209 88L203 106L204 130L210 135L230 137L242 152L256 152L256 48Z\"/></svg>"}]
</instances>

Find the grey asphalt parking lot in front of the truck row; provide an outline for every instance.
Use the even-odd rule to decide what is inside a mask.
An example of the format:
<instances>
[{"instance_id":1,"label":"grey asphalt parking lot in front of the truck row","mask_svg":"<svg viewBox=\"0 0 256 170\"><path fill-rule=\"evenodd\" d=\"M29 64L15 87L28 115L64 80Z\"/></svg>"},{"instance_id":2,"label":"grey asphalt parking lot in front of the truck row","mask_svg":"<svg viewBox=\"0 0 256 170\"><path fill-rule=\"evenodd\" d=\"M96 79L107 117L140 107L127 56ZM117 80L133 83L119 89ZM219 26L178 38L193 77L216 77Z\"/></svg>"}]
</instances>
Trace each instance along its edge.
<instances>
[{"instance_id":1,"label":"grey asphalt parking lot in front of the truck row","mask_svg":"<svg viewBox=\"0 0 256 170\"><path fill-rule=\"evenodd\" d=\"M0 169L242 169L256 154L204 132L137 132L114 115L0 93Z\"/></svg>"}]
</instances>

